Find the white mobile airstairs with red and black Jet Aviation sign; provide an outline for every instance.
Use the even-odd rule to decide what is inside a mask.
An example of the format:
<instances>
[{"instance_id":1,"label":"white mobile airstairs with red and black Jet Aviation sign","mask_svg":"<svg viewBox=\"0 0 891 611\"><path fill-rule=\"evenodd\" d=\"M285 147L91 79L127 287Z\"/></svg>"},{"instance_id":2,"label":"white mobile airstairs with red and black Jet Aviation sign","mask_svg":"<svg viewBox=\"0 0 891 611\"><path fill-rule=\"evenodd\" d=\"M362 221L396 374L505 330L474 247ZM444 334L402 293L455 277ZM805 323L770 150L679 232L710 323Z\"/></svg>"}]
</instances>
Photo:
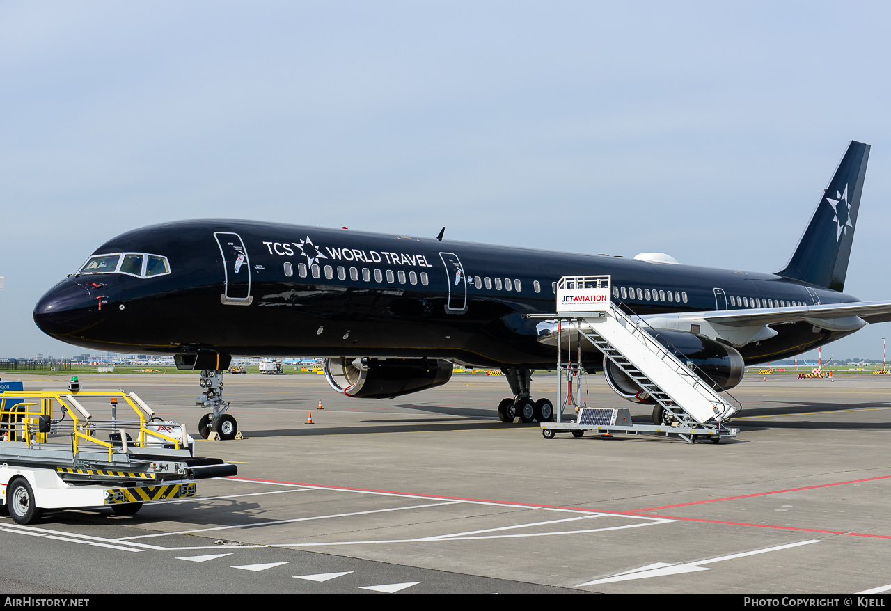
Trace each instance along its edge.
<instances>
[{"instance_id":1,"label":"white mobile airstairs with red and black Jet Aviation sign","mask_svg":"<svg viewBox=\"0 0 891 611\"><path fill-rule=\"evenodd\" d=\"M719 443L724 437L736 436L739 429L727 428L724 421L740 411L740 403L718 394L712 384L693 371L692 363L684 364L678 360L670 346L664 346L644 330L645 322L635 321L635 317L625 314L611 297L609 275L567 276L557 284L557 315L533 315L558 323L560 409L555 413L555 422L542 423L544 437L551 439L556 433L582 436L585 431L601 435L650 433L679 436L690 443L698 438ZM577 360L575 366L561 363L560 347L566 347L563 334L584 338L603 354L604 359L609 359L628 379L634 380L635 386L641 388L639 397L658 404L661 423L634 424L627 409L578 406L572 395L571 380L581 370ZM576 340L576 346L579 341ZM569 380L567 401L563 398L564 372ZM576 382L576 395L577 392ZM567 405L576 406L575 421L564 422L560 418L560 412Z\"/></svg>"}]
</instances>

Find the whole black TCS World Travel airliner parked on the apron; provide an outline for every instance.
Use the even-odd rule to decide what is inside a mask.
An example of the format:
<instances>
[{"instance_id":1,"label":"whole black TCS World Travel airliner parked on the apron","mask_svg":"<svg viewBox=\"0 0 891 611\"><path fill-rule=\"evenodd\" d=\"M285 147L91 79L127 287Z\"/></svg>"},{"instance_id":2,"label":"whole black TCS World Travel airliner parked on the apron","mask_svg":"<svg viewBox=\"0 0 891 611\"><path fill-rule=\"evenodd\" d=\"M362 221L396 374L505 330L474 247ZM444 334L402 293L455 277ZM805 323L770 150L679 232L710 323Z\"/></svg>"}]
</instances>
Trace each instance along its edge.
<instances>
[{"instance_id":1,"label":"whole black TCS World Travel airliner parked on the apron","mask_svg":"<svg viewBox=\"0 0 891 611\"><path fill-rule=\"evenodd\" d=\"M176 354L180 368L208 372L225 370L233 355L323 356L331 386L357 398L437 387L453 363L499 368L513 394L499 406L502 420L544 421L552 419L552 403L534 402L529 381L534 369L554 369L556 325L528 314L555 311L562 276L611 274L614 301L729 389L746 364L891 320L891 301L842 292L869 152L850 144L789 265L777 273L680 265L660 253L628 259L192 220L105 242L41 297L34 320L69 344ZM602 369L618 395L646 401L593 346L582 349L586 370ZM200 429L226 437L236 425L215 408Z\"/></svg>"}]
</instances>

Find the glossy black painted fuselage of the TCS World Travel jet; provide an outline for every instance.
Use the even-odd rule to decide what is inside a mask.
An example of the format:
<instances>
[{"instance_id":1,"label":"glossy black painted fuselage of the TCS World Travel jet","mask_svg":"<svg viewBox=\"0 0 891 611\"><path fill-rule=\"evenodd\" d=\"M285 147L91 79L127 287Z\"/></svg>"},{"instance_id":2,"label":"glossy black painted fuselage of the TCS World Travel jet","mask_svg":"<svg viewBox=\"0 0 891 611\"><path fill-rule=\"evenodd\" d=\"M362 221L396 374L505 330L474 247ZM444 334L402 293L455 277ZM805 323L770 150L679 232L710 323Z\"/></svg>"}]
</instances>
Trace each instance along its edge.
<instances>
[{"instance_id":1,"label":"glossy black painted fuselage of the TCS World Travel jet","mask_svg":"<svg viewBox=\"0 0 891 611\"><path fill-rule=\"evenodd\" d=\"M238 234L247 251L249 305L236 300L248 297L243 280L237 291L230 280L228 297L234 299L223 297L224 255L215 233ZM816 295L822 304L856 300L775 274L250 221L154 225L109 240L94 255L114 252L166 256L171 273L153 278L73 275L37 303L34 319L42 330L70 344L115 352L428 356L486 367L546 368L553 367L556 355L536 341L536 322L523 314L553 312L552 282L564 275L609 273L616 286L688 296L680 304L627 299L625 307L635 314L714 310L719 303L715 288L728 299L739 295L811 304ZM360 257L372 263L356 261ZM321 264L320 277L299 277L298 265L314 259ZM233 263L231 256L227 260ZM521 289L477 289L455 278L455 260L466 278L519 279ZM285 264L293 270L290 277ZM330 280L325 265L332 266ZM338 279L339 265L347 272L345 281ZM360 274L357 281L348 275L353 266ZM370 281L362 278L363 268L372 273ZM374 270L381 271L383 281L375 281ZM395 281L387 281L387 270ZM242 264L240 273L245 271ZM400 271L418 273L419 281L400 283ZM420 273L428 274L427 286ZM541 292L535 293L534 281ZM740 350L747 363L797 354L846 335L815 333L805 323L775 329L778 337Z\"/></svg>"}]
</instances>

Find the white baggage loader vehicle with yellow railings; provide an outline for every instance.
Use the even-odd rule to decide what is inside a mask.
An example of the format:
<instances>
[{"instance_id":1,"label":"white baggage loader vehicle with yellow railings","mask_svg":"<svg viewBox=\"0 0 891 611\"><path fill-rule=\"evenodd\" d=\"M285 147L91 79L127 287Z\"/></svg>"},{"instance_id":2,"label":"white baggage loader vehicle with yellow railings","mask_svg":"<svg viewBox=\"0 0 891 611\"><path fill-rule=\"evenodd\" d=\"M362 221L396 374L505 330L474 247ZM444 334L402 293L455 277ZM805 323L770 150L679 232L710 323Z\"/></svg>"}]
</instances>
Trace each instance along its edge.
<instances>
[{"instance_id":1,"label":"white baggage loader vehicle with yellow railings","mask_svg":"<svg viewBox=\"0 0 891 611\"><path fill-rule=\"evenodd\" d=\"M45 509L132 515L145 501L194 496L197 479L237 474L193 450L183 425L161 420L135 393L80 390L77 381L0 393L0 502L19 524Z\"/></svg>"}]
</instances>

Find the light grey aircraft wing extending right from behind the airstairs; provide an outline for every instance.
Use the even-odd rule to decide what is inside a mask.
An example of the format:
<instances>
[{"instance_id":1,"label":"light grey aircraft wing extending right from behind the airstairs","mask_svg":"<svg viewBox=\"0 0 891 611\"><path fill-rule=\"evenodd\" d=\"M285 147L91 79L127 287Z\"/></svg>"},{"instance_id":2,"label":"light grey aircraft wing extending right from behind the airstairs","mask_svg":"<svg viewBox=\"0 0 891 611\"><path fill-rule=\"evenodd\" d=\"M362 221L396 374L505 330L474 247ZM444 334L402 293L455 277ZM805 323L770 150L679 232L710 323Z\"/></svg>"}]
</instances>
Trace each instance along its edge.
<instances>
[{"instance_id":1,"label":"light grey aircraft wing extending right from behind the airstairs","mask_svg":"<svg viewBox=\"0 0 891 611\"><path fill-rule=\"evenodd\" d=\"M656 314L660 316L661 314ZM865 322L891 321L891 301L853 301L845 304L796 305L789 307L746 308L741 310L713 310L685 312L680 320L715 322L728 327L752 327L781 322L807 321L820 326L818 321L833 321L859 316ZM649 316L645 317L649 318Z\"/></svg>"}]
</instances>

